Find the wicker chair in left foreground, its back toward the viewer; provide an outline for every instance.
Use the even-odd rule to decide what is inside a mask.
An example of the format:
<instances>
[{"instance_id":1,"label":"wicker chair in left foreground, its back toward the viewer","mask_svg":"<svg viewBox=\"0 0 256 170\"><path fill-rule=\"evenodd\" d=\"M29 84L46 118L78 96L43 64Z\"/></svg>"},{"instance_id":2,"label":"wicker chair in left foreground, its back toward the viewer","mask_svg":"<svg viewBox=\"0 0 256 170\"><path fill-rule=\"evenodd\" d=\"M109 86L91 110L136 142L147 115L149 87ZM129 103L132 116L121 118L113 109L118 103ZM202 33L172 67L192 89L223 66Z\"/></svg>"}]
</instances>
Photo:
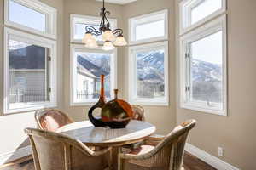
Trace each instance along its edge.
<instances>
[{"instance_id":1,"label":"wicker chair in left foreground, its back toward the viewer","mask_svg":"<svg viewBox=\"0 0 256 170\"><path fill-rule=\"evenodd\" d=\"M111 148L92 151L67 135L26 128L36 170L103 170L110 165Z\"/></svg>"}]
</instances>

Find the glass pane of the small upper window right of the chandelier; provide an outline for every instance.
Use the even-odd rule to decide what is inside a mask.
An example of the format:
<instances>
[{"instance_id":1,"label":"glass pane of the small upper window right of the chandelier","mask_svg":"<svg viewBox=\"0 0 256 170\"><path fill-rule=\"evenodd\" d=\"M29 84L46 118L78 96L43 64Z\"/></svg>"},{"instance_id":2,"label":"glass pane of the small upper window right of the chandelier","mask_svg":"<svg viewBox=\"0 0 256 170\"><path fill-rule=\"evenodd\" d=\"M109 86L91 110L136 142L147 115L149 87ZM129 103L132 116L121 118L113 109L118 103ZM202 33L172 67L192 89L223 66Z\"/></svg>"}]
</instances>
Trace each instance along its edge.
<instances>
[{"instance_id":1,"label":"glass pane of the small upper window right of the chandelier","mask_svg":"<svg viewBox=\"0 0 256 170\"><path fill-rule=\"evenodd\" d=\"M136 40L165 36L165 20L158 20L136 26Z\"/></svg>"}]
</instances>

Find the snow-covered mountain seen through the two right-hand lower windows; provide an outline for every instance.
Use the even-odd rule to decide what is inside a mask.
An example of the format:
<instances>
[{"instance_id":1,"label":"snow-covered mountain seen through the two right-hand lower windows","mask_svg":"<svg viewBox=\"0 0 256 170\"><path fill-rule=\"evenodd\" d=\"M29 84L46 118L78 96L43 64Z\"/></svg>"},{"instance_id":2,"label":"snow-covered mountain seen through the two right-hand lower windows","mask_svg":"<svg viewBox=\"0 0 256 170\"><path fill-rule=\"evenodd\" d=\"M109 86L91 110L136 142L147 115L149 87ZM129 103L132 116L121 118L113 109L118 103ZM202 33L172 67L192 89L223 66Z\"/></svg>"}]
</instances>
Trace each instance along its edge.
<instances>
[{"instance_id":1,"label":"snow-covered mountain seen through the two right-hand lower windows","mask_svg":"<svg viewBox=\"0 0 256 170\"><path fill-rule=\"evenodd\" d=\"M137 54L137 73L140 80L162 82L164 80L164 51ZM193 81L217 82L222 80L221 65L192 60Z\"/></svg>"}]
</instances>

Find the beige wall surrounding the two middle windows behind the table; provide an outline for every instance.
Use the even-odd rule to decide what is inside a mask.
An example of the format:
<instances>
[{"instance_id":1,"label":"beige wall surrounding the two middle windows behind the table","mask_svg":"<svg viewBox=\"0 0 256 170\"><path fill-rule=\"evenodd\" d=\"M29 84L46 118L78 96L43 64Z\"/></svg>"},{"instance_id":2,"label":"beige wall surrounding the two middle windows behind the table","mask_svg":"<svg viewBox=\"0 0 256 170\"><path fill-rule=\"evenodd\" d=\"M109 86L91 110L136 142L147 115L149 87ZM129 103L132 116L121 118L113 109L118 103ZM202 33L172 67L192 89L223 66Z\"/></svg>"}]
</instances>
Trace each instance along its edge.
<instances>
[{"instance_id":1,"label":"beige wall surrounding the two middle windows behind the table","mask_svg":"<svg viewBox=\"0 0 256 170\"><path fill-rule=\"evenodd\" d=\"M147 3L147 6L144 4ZM144 8L142 8L142 6ZM85 106L70 106L70 79L69 79L69 69L70 69L70 22L69 15L70 14L87 14L87 15L95 15L98 16L98 13L102 8L102 3L97 3L94 0L73 0L65 1L65 44L64 44L64 91L65 91L65 105L64 111L67 111L70 116L72 116L77 121L82 121L87 119L87 112L90 107ZM158 133L168 133L171 131L172 127L174 127L176 122L175 116L175 53L174 53L174 44L175 44L175 36L174 36L174 24L175 24L175 16L174 16L174 2L170 3L169 0L158 0L157 3L154 0L140 0L137 3L131 3L125 6L107 4L107 8L111 11L111 17L118 19L119 27L124 28L125 37L128 40L127 29L128 28L128 18L137 16L140 14L148 14L150 12L158 11L161 9L168 8L169 9L169 18L170 18L170 33L169 33L169 41L170 41L170 106L168 107L146 107L145 110L147 113L148 122L154 123L157 126ZM120 91L120 97L124 99L128 99L128 48L118 48L118 88Z\"/></svg>"}]
</instances>

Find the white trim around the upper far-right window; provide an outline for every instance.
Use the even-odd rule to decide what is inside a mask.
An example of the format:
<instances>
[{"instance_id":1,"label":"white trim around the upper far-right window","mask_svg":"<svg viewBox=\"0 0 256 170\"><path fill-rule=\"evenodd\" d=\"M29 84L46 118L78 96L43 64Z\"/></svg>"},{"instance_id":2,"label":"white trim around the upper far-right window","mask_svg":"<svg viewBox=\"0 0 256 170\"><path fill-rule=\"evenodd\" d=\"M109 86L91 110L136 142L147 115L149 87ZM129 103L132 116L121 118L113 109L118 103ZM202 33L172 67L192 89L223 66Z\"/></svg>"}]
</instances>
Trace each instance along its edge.
<instances>
[{"instance_id":1,"label":"white trim around the upper far-right window","mask_svg":"<svg viewBox=\"0 0 256 170\"><path fill-rule=\"evenodd\" d=\"M203 18L202 20L199 20L193 25L189 26L189 19L191 18L188 14L188 10L183 10L183 7L188 5L189 3L200 3L203 0L183 0L181 3L179 3L179 28L180 28L180 35L183 35L184 33L188 31L194 30L196 27L199 27L203 24L205 24L208 20L212 20L216 18L218 15L224 14L226 11L226 0L222 0L222 8L218 9L217 11L213 12L212 14L209 14L207 17ZM185 27L187 26L187 27Z\"/></svg>"}]
</instances>

